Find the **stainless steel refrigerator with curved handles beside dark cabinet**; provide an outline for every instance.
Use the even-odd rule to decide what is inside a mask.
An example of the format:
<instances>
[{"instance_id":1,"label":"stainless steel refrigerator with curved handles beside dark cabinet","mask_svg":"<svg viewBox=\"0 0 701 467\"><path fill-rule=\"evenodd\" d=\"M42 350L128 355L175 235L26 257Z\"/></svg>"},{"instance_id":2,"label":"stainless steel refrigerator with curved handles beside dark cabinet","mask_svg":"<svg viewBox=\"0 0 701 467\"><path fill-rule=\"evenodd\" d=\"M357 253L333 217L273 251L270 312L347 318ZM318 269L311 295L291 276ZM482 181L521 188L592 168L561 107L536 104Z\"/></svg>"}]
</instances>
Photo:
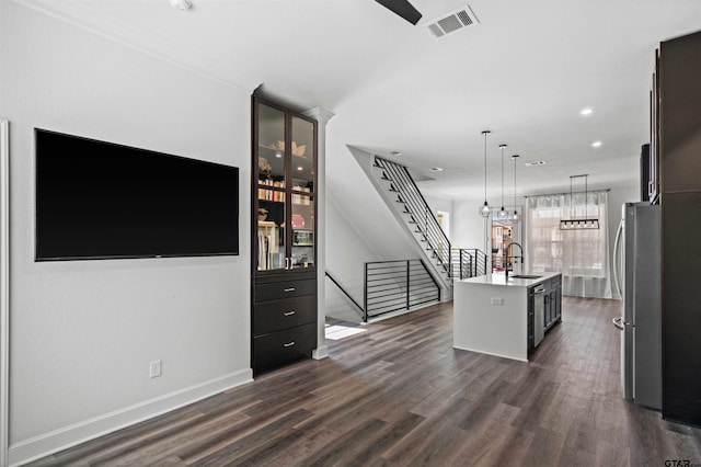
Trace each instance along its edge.
<instances>
[{"instance_id":1,"label":"stainless steel refrigerator with curved handles beside dark cabinet","mask_svg":"<svg viewBox=\"0 0 701 467\"><path fill-rule=\"evenodd\" d=\"M613 324L621 330L623 398L662 409L662 210L625 203L613 244L613 278L622 307Z\"/></svg>"}]
</instances>

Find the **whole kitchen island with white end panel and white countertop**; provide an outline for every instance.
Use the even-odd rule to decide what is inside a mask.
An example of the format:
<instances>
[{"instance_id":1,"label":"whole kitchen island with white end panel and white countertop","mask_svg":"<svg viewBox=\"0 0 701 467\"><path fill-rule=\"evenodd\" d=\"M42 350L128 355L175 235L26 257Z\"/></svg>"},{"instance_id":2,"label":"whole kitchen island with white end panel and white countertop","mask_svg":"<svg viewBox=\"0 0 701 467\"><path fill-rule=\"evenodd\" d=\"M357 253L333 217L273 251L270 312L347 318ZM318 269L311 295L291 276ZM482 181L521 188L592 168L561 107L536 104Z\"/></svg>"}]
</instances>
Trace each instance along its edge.
<instances>
[{"instance_id":1,"label":"whole kitchen island with white end panel and white countertop","mask_svg":"<svg viewBox=\"0 0 701 467\"><path fill-rule=\"evenodd\" d=\"M528 361L562 320L562 274L492 274L455 282L455 349Z\"/></svg>"}]
</instances>

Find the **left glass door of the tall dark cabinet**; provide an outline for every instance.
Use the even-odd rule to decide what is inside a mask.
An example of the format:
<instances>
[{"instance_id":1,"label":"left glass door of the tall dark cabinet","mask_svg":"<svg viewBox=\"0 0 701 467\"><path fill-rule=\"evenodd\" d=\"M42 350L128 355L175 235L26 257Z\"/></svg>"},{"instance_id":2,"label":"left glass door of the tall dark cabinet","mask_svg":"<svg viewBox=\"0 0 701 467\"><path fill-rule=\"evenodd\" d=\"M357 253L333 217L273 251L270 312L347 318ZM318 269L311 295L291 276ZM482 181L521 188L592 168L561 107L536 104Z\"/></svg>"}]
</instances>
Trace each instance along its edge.
<instances>
[{"instance_id":1,"label":"left glass door of the tall dark cabinet","mask_svg":"<svg viewBox=\"0 0 701 467\"><path fill-rule=\"evenodd\" d=\"M285 112L263 103L257 112L257 270L285 270Z\"/></svg>"}]
</instances>

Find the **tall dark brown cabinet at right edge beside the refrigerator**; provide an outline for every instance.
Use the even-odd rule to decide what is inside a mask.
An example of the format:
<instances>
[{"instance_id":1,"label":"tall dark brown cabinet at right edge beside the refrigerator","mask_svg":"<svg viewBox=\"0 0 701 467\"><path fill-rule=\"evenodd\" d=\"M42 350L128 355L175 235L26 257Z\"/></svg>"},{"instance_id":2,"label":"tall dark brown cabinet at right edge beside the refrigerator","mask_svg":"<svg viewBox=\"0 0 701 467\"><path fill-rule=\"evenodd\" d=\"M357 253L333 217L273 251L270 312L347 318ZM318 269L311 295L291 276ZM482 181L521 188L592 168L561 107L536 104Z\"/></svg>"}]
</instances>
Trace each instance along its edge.
<instances>
[{"instance_id":1,"label":"tall dark brown cabinet at right edge beside the refrigerator","mask_svg":"<svg viewBox=\"0 0 701 467\"><path fill-rule=\"evenodd\" d=\"M701 231L701 32L663 42L658 57L662 413L701 426L701 243L689 240Z\"/></svg>"}]
</instances>

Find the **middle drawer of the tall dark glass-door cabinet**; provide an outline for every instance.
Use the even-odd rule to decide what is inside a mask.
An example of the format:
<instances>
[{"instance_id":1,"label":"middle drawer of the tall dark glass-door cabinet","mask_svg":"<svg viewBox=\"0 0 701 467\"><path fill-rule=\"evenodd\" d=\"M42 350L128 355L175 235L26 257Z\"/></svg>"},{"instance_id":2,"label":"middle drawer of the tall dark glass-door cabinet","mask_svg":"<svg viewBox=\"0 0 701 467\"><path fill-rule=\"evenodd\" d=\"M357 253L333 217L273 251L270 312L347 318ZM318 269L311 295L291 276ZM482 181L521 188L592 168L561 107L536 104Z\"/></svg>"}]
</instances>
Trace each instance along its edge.
<instances>
[{"instance_id":1,"label":"middle drawer of the tall dark glass-door cabinet","mask_svg":"<svg viewBox=\"0 0 701 467\"><path fill-rule=\"evenodd\" d=\"M317 322L317 295L283 298L253 306L253 335Z\"/></svg>"}]
</instances>

